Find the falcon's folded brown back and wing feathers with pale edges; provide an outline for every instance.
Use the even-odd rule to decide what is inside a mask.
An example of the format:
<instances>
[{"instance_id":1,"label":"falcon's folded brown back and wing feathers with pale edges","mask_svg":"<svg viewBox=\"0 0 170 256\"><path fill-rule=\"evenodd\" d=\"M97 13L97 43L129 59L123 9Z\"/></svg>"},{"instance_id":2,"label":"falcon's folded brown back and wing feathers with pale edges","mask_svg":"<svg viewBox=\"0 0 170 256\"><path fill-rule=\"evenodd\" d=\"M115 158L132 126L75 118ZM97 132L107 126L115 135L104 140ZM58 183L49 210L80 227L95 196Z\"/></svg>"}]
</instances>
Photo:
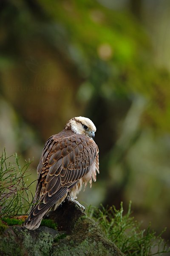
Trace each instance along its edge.
<instances>
[{"instance_id":1,"label":"falcon's folded brown back and wing feathers with pale edges","mask_svg":"<svg viewBox=\"0 0 170 256\"><path fill-rule=\"evenodd\" d=\"M37 168L34 204L38 204L32 207L28 221L51 208L88 173L96 157L95 145L90 138L72 132L68 137L48 139Z\"/></svg>"}]
</instances>

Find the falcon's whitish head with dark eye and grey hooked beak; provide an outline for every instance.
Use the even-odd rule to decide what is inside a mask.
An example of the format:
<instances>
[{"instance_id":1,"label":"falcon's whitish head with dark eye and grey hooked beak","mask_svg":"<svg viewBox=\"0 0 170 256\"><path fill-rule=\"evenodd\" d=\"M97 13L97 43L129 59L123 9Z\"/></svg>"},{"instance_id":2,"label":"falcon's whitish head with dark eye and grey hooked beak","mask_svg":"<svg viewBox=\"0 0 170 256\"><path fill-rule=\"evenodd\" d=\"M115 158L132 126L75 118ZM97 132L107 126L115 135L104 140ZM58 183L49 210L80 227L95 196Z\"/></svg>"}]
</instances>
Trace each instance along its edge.
<instances>
[{"instance_id":1,"label":"falcon's whitish head with dark eye and grey hooked beak","mask_svg":"<svg viewBox=\"0 0 170 256\"><path fill-rule=\"evenodd\" d=\"M91 119L87 117L74 117L68 121L68 123L65 125L65 130L71 129L71 131L74 131L76 134L83 134L88 137L94 138L96 126L91 121Z\"/></svg>"}]
</instances>

